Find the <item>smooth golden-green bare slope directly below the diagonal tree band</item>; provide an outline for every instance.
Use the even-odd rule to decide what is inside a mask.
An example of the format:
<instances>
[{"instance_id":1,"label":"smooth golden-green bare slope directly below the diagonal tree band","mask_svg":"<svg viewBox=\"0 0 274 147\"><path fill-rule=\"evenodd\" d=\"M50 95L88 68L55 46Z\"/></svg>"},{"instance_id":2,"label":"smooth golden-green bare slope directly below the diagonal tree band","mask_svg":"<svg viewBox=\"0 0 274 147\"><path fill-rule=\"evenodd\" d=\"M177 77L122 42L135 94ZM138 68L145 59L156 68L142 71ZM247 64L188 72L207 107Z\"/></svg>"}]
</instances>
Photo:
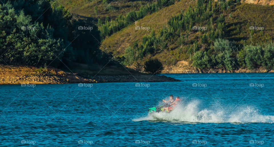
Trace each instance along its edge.
<instances>
[{"instance_id":1,"label":"smooth golden-green bare slope directly below the diagonal tree band","mask_svg":"<svg viewBox=\"0 0 274 147\"><path fill-rule=\"evenodd\" d=\"M128 46L132 46L134 41L141 42L144 35L151 33L153 29L155 33L158 33L163 26L167 25L168 20L181 11L186 11L189 5L195 4L192 0L182 0L174 5L163 8L160 11L153 13L138 20L135 25L130 25L127 28L107 37L102 41L100 46L101 50L112 52L114 55L124 54L124 49ZM136 30L136 26L150 27L150 30Z\"/></svg>"}]
</instances>

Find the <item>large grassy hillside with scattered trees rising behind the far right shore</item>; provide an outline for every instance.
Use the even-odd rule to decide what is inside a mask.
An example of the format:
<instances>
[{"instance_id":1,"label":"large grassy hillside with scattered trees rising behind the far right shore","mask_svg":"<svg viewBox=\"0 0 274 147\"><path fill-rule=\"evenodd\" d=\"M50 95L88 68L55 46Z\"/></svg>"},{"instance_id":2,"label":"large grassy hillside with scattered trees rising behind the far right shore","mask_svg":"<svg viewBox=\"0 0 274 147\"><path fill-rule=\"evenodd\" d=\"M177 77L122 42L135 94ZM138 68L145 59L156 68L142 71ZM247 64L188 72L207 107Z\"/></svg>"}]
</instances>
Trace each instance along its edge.
<instances>
[{"instance_id":1,"label":"large grassy hillside with scattered trees rising behind the far right shore","mask_svg":"<svg viewBox=\"0 0 274 147\"><path fill-rule=\"evenodd\" d=\"M168 22L171 21L171 17L184 17L186 13L188 13L187 10L189 9L190 4L192 4L192 8L190 11L194 11L195 15L196 13L201 13L195 16L195 18L199 19L199 21L193 19L190 24L191 26L187 26L187 28L185 28L185 30L183 30L182 32L172 33L172 30L175 28L174 26L170 26L170 24L168 24ZM249 45L252 47L252 45L256 46L256 44L261 44L261 48L265 48L266 46L271 48L271 45L263 45L263 43L270 43L273 41L273 5L254 5L247 3L236 3L233 1L225 1L221 3L212 2L212 12L214 13L211 14L209 13L210 11L207 12L209 9L206 10L206 8L204 10L206 11L206 13L200 12L201 8L199 7L198 9L196 5L196 1L180 1L175 5L166 7L152 15L148 15L143 19L140 19L136 25L131 25L128 28L124 28L123 30L103 40L100 49L110 51L115 56L125 56L126 58L133 58L133 64L137 61L143 62L148 58L158 58L161 60L162 63L165 64L165 66L174 65L181 60L186 60L192 63L193 59L202 60L206 55L206 58L209 59L205 59L206 61L202 65L200 65L201 63L195 63L196 67L219 68L223 66L225 68L229 68L230 70L232 70L233 68L246 66L249 68L263 66L261 63L266 62L267 58L271 59L269 55L264 55L264 53L261 54L260 60L258 61L255 61L254 59L251 60L251 57L250 60L245 59L246 54L250 53L250 51L248 51L247 48L244 48L244 46ZM207 6L208 4L204 3L204 7ZM183 10L183 13L181 15L180 9ZM197 12L195 11L196 9ZM200 16L208 14L211 16L208 19L203 19L203 16ZM172 19L177 18L173 17ZM180 20L175 20L174 22L175 25L176 23L178 25L178 23L180 23ZM209 29L204 31L192 30L191 27L196 25L206 26ZM148 26L150 27L150 30L135 30L135 26ZM250 29L253 26L255 27L255 29ZM256 26L257 28L263 27L263 29L258 30L256 29ZM160 44L161 42L158 42L157 38L159 39L163 37L160 32L165 31L163 30L164 27L167 27L166 30L168 30L168 33L171 33L173 35L171 35L168 41L164 40L167 43L165 47L162 47L162 45ZM154 39L150 36L151 33L153 34L153 36L155 36ZM211 37L210 35L212 35L213 37ZM215 40L216 37L223 38L224 40L219 40L218 42ZM143 57L139 58L136 57L136 49L134 49L134 46L136 45L136 43L139 47L140 45L144 45L144 38L149 42L150 46L154 47L155 51L151 53L146 52ZM151 38L150 41L149 38ZM183 38L183 43L180 44L181 38ZM203 38L204 40L202 40ZM218 43L227 42L225 41L225 39L231 42L235 41L235 43L232 43L233 46L228 47L230 49L233 49L235 46L235 50L229 49L228 52L223 51L222 53L220 53L216 49ZM134 44L134 42L136 43ZM228 44L231 43L228 42ZM127 47L130 47L130 50L135 51L132 51L132 53L125 52ZM243 49L243 51L240 53L241 49ZM205 53L198 57L198 54L196 54L198 51ZM132 54L132 57L130 57L130 55L128 54ZM195 54L196 56L194 56ZM241 57L242 59L239 58L241 54L244 54ZM221 61L217 63L217 59L215 59L217 58L217 56L220 56L220 60L223 60L222 62L227 63L221 63ZM211 59L211 57L214 59ZM252 62L251 64L253 66L251 66L251 64L248 64L247 62ZM124 62L124 64L131 66L132 62Z\"/></svg>"}]
</instances>

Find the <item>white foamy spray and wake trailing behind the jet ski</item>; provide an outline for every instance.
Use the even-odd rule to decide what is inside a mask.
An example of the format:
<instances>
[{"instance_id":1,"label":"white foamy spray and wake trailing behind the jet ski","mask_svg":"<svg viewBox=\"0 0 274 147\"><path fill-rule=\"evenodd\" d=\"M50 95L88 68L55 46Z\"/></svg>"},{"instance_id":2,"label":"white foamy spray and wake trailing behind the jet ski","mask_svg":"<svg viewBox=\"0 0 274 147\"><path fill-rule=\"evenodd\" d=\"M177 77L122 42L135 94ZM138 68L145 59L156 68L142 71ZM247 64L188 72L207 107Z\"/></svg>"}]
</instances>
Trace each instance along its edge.
<instances>
[{"instance_id":1,"label":"white foamy spray and wake trailing behind the jet ski","mask_svg":"<svg viewBox=\"0 0 274 147\"><path fill-rule=\"evenodd\" d=\"M214 103L202 108L195 100L178 105L172 112L149 113L133 121L180 121L190 123L274 123L274 116L261 115L257 109L248 105L222 106Z\"/></svg>"}]
</instances>

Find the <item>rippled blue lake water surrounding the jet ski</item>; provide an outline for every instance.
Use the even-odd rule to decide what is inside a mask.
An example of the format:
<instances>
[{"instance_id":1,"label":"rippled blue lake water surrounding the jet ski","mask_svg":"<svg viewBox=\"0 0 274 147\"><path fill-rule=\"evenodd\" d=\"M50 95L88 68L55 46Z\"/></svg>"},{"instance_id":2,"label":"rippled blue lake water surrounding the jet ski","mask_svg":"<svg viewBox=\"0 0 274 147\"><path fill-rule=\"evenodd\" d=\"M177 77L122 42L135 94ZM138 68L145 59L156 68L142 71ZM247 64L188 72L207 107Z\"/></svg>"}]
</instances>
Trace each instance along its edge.
<instances>
[{"instance_id":1,"label":"rippled blue lake water surrounding the jet ski","mask_svg":"<svg viewBox=\"0 0 274 147\"><path fill-rule=\"evenodd\" d=\"M166 75L182 81L0 85L0 144L273 146L274 73ZM170 94L174 111L148 114Z\"/></svg>"}]
</instances>

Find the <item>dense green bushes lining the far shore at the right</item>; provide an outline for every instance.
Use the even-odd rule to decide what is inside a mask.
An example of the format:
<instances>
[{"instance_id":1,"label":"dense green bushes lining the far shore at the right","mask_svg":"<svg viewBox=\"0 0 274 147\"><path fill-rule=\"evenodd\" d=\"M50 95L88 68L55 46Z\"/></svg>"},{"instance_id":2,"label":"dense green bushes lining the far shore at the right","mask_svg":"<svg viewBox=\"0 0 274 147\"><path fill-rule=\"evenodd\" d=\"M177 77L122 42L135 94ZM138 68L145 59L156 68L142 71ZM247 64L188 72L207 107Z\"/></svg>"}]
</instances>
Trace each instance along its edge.
<instances>
[{"instance_id":1,"label":"dense green bushes lining the far shore at the right","mask_svg":"<svg viewBox=\"0 0 274 147\"><path fill-rule=\"evenodd\" d=\"M235 42L225 39L216 39L213 50L204 52L199 50L193 57L192 65L197 68L234 68L247 67L248 69L264 67L274 69L274 44L263 43L245 45L241 49Z\"/></svg>"}]
</instances>

